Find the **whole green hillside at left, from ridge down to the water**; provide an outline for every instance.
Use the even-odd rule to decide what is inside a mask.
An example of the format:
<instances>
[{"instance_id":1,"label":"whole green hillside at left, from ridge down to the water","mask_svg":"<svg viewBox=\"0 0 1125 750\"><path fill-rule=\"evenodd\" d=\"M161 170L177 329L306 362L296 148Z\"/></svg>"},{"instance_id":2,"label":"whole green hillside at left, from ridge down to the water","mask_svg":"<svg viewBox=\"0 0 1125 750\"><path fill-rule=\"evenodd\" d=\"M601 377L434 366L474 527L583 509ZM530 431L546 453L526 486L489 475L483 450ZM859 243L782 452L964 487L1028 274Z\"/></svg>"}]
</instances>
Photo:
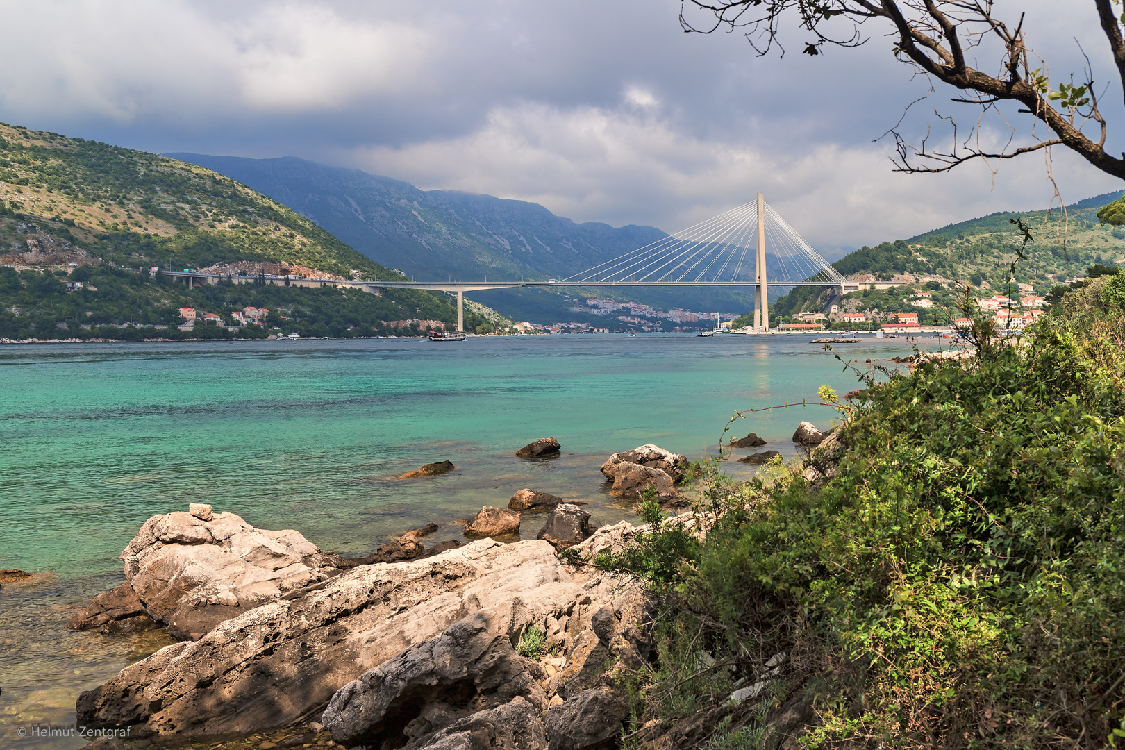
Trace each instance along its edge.
<instances>
[{"instance_id":1,"label":"whole green hillside at left, from ridge down to the water","mask_svg":"<svg viewBox=\"0 0 1125 750\"><path fill-rule=\"evenodd\" d=\"M16 338L135 337L120 326L171 325L179 307L227 318L245 305L276 308L270 327L313 335L389 333L384 322L411 319L453 325L457 316L442 292L376 297L227 284L189 292L163 283L151 268L403 277L196 164L8 125L0 125L0 264L8 266L0 275L0 336ZM467 322L485 325L471 314Z\"/></svg>"}]
</instances>

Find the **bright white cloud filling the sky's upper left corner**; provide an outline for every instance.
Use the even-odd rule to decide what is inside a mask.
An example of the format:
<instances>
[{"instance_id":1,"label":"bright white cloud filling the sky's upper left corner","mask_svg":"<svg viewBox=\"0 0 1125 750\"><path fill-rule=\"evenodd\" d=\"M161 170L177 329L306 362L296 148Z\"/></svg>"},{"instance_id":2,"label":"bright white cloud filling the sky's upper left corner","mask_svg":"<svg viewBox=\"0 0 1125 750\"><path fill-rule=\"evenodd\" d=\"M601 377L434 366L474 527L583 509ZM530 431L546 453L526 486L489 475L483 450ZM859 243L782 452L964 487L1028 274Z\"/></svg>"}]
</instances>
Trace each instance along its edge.
<instances>
[{"instance_id":1,"label":"bright white cloud filling the sky's upper left corner","mask_svg":"<svg viewBox=\"0 0 1125 750\"><path fill-rule=\"evenodd\" d=\"M238 11L218 15L187 0L0 2L9 29L0 111L129 123L324 110L417 89L421 63L432 56L425 31L395 20L309 2Z\"/></svg>"}]
</instances>

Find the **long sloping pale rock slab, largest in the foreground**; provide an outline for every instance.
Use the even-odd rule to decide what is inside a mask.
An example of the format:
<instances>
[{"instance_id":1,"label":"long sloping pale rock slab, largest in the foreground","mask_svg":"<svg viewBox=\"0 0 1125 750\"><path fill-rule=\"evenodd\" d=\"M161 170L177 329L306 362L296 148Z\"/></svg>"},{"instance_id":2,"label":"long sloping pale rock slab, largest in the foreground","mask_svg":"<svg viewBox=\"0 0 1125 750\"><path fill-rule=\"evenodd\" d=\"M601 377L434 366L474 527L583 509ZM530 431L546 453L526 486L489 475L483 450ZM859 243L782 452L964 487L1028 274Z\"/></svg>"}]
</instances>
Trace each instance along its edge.
<instances>
[{"instance_id":1,"label":"long sloping pale rock slab, largest in the foreground","mask_svg":"<svg viewBox=\"0 0 1125 750\"><path fill-rule=\"evenodd\" d=\"M580 625L600 607L547 542L480 540L424 560L354 568L199 641L165 647L82 693L78 721L181 737L284 726L467 615L488 613L511 641L528 623L572 613Z\"/></svg>"}]
</instances>

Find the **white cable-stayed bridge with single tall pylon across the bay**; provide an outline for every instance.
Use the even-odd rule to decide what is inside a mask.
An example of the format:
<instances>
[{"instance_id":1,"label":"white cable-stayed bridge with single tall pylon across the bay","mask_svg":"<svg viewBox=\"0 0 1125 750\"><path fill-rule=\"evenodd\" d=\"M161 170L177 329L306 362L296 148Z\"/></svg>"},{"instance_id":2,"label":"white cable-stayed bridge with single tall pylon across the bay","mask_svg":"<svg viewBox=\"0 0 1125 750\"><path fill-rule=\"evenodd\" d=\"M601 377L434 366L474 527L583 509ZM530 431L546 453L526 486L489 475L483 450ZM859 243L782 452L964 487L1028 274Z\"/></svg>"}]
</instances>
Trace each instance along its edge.
<instances>
[{"instance_id":1,"label":"white cable-stayed bridge with single tall pylon across the bay","mask_svg":"<svg viewBox=\"0 0 1125 750\"><path fill-rule=\"evenodd\" d=\"M772 261L770 261L772 259ZM210 282L208 274L187 277L190 286ZM198 277L207 277L200 280ZM236 279L235 279L236 280ZM324 283L378 288L428 289L457 293L457 329L464 328L464 292L514 287L754 287L754 328L770 327L768 288L839 287L855 291L820 253L785 223L777 211L757 200L732 208L682 232L638 247L565 279L520 281L328 281L285 279L296 286Z\"/></svg>"}]
</instances>

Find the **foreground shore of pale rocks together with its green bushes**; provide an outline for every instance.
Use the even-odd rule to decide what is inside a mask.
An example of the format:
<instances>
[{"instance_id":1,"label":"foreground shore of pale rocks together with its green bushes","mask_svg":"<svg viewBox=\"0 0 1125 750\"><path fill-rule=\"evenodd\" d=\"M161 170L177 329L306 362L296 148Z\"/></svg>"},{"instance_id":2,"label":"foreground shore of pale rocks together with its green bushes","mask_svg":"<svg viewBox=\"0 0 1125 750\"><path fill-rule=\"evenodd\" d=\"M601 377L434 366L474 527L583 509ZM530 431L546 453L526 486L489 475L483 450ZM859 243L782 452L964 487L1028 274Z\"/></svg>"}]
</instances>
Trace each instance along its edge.
<instances>
[{"instance_id":1,"label":"foreground shore of pale rocks together with its green bushes","mask_svg":"<svg viewBox=\"0 0 1125 750\"><path fill-rule=\"evenodd\" d=\"M135 587L146 555L232 534L308 580L83 693L79 720L145 747L1106 747L1125 738L1123 311L1122 271L1019 338L966 302L971 354L821 388L839 424L802 425L806 455L747 482L614 454L638 524L521 490L550 506L539 540L381 561L424 550L417 530L328 575L297 532L156 516L123 557ZM475 522L503 540L520 515ZM248 606L222 586L176 606L212 613L212 593Z\"/></svg>"}]
</instances>

